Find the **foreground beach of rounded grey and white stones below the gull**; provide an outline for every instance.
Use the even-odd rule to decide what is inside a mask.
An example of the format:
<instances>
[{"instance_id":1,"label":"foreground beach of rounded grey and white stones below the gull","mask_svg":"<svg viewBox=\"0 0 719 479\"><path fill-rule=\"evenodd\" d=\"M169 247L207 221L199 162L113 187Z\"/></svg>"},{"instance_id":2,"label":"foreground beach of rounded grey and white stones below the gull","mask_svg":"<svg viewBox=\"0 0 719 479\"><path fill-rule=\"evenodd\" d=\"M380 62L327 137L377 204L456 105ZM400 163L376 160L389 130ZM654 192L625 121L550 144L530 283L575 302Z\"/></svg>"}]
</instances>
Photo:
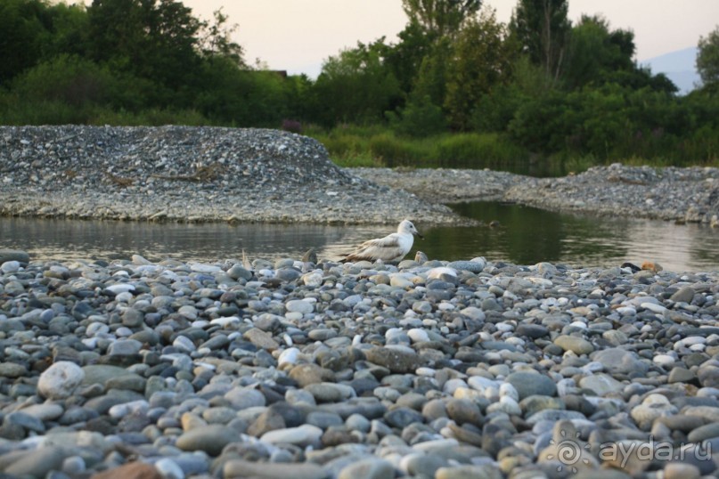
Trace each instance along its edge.
<instances>
[{"instance_id":1,"label":"foreground beach of rounded grey and white stones below the gull","mask_svg":"<svg viewBox=\"0 0 719 479\"><path fill-rule=\"evenodd\" d=\"M16 257L4 477L717 469L719 273Z\"/></svg>"}]
</instances>

